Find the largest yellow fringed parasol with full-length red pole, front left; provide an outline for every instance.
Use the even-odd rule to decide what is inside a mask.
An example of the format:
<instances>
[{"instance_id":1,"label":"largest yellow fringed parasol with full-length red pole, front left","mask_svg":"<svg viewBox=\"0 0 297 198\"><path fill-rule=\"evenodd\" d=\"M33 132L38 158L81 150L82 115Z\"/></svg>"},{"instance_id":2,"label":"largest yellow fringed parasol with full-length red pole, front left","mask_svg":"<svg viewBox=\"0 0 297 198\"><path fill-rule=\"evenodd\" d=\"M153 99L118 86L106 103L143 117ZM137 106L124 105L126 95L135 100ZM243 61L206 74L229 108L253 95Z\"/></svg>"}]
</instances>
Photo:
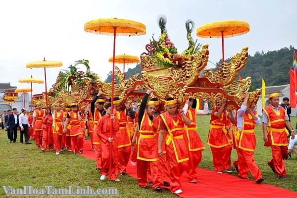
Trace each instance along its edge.
<instances>
[{"instance_id":1,"label":"largest yellow fringed parasol with full-length red pole, front left","mask_svg":"<svg viewBox=\"0 0 297 198\"><path fill-rule=\"evenodd\" d=\"M113 95L114 95L114 62L115 62L115 38L116 35L123 36L140 36L146 34L146 26L142 23L118 19L118 18L99 18L88 21L84 24L84 30L94 34L101 35L113 35L113 54L112 54L112 77L111 77L111 112L113 113ZM110 135L113 135L113 129L110 127ZM111 170L111 153L112 145L110 148L110 164L109 170Z\"/></svg>"}]
</instances>

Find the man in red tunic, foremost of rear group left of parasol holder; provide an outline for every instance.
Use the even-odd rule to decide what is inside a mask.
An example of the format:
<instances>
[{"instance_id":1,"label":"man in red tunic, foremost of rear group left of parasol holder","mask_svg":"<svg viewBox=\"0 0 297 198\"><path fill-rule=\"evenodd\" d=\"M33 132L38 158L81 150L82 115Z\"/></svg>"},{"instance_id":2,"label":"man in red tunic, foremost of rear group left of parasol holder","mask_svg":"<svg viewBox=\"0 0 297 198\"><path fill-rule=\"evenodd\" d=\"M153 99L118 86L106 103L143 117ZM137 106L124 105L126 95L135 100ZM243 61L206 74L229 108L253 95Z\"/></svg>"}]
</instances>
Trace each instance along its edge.
<instances>
[{"instance_id":1,"label":"man in red tunic, foremost of rear group left of parasol holder","mask_svg":"<svg viewBox=\"0 0 297 198\"><path fill-rule=\"evenodd\" d=\"M81 115L77 111L77 104L71 104L71 111L67 113L66 121L64 124L63 133L67 131L67 124L69 124L69 132L71 137L72 150L75 154L83 153L84 148L84 135L80 125Z\"/></svg>"}]
</instances>

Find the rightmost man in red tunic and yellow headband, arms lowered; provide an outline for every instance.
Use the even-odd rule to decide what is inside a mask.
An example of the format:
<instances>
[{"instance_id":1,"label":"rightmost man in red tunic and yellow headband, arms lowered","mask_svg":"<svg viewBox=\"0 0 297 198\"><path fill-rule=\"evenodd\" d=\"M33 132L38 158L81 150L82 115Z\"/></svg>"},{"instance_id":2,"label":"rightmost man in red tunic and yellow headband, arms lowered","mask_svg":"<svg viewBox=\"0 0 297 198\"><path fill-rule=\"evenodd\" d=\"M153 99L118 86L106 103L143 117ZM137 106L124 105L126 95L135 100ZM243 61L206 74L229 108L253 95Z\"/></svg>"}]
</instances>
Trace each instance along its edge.
<instances>
[{"instance_id":1,"label":"rightmost man in red tunic and yellow headband, arms lowered","mask_svg":"<svg viewBox=\"0 0 297 198\"><path fill-rule=\"evenodd\" d=\"M286 110L279 105L280 94L273 93L268 96L269 105L263 108L263 140L264 146L271 147L272 159L268 165L279 179L286 178L284 159L288 155L288 129L291 129L291 138L295 133L289 121Z\"/></svg>"}]
</instances>

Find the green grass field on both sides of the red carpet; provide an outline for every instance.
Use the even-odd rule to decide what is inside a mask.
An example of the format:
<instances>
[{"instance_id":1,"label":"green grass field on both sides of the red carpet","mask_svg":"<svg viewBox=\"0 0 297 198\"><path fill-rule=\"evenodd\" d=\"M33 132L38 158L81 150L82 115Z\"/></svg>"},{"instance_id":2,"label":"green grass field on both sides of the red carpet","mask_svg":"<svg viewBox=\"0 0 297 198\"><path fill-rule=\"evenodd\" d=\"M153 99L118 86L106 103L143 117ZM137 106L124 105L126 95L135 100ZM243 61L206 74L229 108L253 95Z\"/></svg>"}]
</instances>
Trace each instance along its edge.
<instances>
[{"instance_id":1,"label":"green grass field on both sides of the red carpet","mask_svg":"<svg viewBox=\"0 0 297 198\"><path fill-rule=\"evenodd\" d=\"M296 125L296 117L292 123ZM198 116L197 118L199 135L206 143L209 129L209 116ZM279 180L267 165L271 158L270 148L263 146L261 126L257 126L257 148L255 160L262 171L265 184L271 184L281 188L297 191L297 156L286 160L286 180ZM33 142L35 143L35 142ZM232 151L232 161L237 158L236 151ZM95 170L95 162L80 155L74 155L68 151L61 152L56 156L54 151L41 152L34 144L21 145L19 143L19 132L17 143L8 143L6 131L1 130L0 135L0 196L4 196L2 186L13 188L23 188L23 186L33 186L34 188L44 188L54 186L55 188L66 188L68 186L80 186L82 188L90 186L97 188L117 188L121 198L171 198L176 197L169 191L163 190L156 193L149 188L140 189L137 180L130 176L119 176L119 183L99 180L99 174ZM213 170L212 155L208 146L203 151L201 168ZM199 174L199 173L198 173ZM236 175L236 173L233 173ZM61 197L61 196L59 196Z\"/></svg>"}]
</instances>

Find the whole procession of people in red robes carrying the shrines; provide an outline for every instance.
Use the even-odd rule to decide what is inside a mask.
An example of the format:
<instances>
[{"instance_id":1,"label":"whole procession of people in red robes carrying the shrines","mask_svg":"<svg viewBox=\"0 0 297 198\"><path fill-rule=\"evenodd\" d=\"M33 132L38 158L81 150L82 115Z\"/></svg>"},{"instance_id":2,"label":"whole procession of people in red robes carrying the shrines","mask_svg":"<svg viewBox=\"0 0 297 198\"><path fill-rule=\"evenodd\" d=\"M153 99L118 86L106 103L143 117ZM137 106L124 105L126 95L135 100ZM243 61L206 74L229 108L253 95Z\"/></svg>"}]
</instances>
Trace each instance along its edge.
<instances>
[{"instance_id":1,"label":"whole procession of people in red robes carrying the shrines","mask_svg":"<svg viewBox=\"0 0 297 198\"><path fill-rule=\"evenodd\" d=\"M57 155L63 150L83 153L87 128L100 180L120 181L118 175L126 174L131 160L132 165L136 164L141 188L148 188L151 183L154 191L167 188L181 194L180 177L184 172L189 182L198 182L196 167L205 146L198 135L196 115L208 114L207 99L202 99L203 110L196 109L194 98L186 99L182 105L177 99L168 98L163 101L165 108L161 109L162 101L152 98L151 93L153 90L147 90L142 100L135 103L115 97L112 104L110 98L100 92L90 104L65 104L61 98L47 108L36 103L29 117L27 109L22 109L20 116L13 109L7 126L11 126L11 137L14 126L19 125L25 132L26 144L31 137L43 152L55 150ZM286 109L279 105L279 97L278 93L269 95L269 105L262 109L262 121L255 110L257 101L251 99L248 92L238 110L227 106L226 99L216 99L207 145L218 174L232 172L231 151L235 148L238 159L233 165L239 177L247 179L250 172L255 183L264 181L253 156L254 128L262 122L264 146L271 147L272 152L267 164L279 179L286 178L284 159L292 151L291 147L288 150L287 137L290 135L290 140L295 140L295 133Z\"/></svg>"}]
</instances>

